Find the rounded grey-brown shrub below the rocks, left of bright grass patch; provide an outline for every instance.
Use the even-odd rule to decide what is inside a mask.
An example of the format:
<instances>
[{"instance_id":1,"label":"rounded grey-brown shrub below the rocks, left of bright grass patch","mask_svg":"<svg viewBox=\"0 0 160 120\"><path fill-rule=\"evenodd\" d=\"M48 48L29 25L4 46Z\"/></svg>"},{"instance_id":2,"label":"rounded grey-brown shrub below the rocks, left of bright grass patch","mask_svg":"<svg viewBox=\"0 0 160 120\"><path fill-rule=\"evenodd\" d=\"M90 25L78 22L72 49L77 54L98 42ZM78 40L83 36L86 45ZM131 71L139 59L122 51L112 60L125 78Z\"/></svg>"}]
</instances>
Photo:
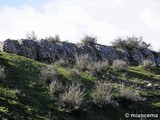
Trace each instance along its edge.
<instances>
[{"instance_id":1,"label":"rounded grey-brown shrub below the rocks, left of bright grass patch","mask_svg":"<svg viewBox=\"0 0 160 120\"><path fill-rule=\"evenodd\" d=\"M40 77L47 82L51 82L58 78L58 72L53 65L47 65L41 69Z\"/></svg>"}]
</instances>

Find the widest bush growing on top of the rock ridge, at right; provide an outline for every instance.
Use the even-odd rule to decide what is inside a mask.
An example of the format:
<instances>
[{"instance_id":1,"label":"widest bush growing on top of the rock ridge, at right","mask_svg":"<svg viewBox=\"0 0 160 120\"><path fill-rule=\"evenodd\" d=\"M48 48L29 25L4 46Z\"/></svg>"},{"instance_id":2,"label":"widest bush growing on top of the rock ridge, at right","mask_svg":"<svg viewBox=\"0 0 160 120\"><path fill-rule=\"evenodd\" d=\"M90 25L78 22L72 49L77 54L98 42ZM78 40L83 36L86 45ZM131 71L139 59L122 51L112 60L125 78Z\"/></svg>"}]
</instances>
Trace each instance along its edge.
<instances>
[{"instance_id":1,"label":"widest bush growing on top of the rock ridge, at right","mask_svg":"<svg viewBox=\"0 0 160 120\"><path fill-rule=\"evenodd\" d=\"M143 41L142 37L126 37L126 38L118 38L115 39L115 41L112 42L112 45L114 47L122 47L127 49L149 49L151 47L151 44L147 44Z\"/></svg>"}]
</instances>

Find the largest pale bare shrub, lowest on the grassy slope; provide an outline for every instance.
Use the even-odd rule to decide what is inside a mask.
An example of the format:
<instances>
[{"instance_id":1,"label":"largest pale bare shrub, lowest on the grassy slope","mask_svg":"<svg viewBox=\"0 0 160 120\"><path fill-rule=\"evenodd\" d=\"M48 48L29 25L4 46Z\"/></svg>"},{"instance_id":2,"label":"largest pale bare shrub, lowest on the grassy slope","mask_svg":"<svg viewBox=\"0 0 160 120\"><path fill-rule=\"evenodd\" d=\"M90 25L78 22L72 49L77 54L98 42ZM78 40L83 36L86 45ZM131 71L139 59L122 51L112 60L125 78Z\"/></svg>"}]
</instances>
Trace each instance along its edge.
<instances>
[{"instance_id":1,"label":"largest pale bare shrub, lowest on the grassy slope","mask_svg":"<svg viewBox=\"0 0 160 120\"><path fill-rule=\"evenodd\" d=\"M72 112L80 108L84 100L84 89L81 90L81 84L72 83L65 93L60 95L60 105L59 108L62 111Z\"/></svg>"}]
</instances>

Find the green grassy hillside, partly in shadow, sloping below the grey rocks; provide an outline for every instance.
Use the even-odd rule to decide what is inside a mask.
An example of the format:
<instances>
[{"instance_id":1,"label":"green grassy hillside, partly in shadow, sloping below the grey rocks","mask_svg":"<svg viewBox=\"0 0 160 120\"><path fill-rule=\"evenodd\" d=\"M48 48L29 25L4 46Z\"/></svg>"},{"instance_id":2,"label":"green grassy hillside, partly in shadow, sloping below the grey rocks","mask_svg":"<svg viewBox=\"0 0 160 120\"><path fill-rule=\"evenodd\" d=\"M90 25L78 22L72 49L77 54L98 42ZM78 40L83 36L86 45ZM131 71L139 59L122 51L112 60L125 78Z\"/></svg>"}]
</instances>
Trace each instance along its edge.
<instances>
[{"instance_id":1,"label":"green grassy hillside, partly in shadow, sloping below the grey rocks","mask_svg":"<svg viewBox=\"0 0 160 120\"><path fill-rule=\"evenodd\" d=\"M82 106L66 112L59 109L57 98L50 93L50 82L40 76L46 64L15 54L0 53L0 65L5 67L6 78L0 81L0 118L10 120L120 120L125 113L160 113L160 68L145 69L143 66L128 66L117 71L112 66L98 74L80 70L71 72L73 66L56 65L58 80L64 86L80 82L85 88ZM92 102L92 89L97 81L110 80L113 86L114 104L98 106ZM145 100L132 101L118 95L119 86L133 86ZM149 83L153 84L148 88ZM115 105L118 104L118 105Z\"/></svg>"}]
</instances>

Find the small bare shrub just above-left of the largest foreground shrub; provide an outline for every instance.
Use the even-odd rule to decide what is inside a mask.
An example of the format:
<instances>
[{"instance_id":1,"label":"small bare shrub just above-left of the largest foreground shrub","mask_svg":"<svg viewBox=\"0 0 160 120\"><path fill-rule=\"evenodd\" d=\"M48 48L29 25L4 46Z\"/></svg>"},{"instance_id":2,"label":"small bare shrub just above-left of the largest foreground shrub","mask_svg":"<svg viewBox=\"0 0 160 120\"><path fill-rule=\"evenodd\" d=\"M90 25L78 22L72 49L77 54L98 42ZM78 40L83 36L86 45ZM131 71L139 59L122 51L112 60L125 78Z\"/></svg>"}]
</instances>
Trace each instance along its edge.
<instances>
[{"instance_id":1,"label":"small bare shrub just above-left of the largest foreground shrub","mask_svg":"<svg viewBox=\"0 0 160 120\"><path fill-rule=\"evenodd\" d=\"M63 85L58 80L53 80L50 84L50 93L53 95L60 92L63 89Z\"/></svg>"}]
</instances>

